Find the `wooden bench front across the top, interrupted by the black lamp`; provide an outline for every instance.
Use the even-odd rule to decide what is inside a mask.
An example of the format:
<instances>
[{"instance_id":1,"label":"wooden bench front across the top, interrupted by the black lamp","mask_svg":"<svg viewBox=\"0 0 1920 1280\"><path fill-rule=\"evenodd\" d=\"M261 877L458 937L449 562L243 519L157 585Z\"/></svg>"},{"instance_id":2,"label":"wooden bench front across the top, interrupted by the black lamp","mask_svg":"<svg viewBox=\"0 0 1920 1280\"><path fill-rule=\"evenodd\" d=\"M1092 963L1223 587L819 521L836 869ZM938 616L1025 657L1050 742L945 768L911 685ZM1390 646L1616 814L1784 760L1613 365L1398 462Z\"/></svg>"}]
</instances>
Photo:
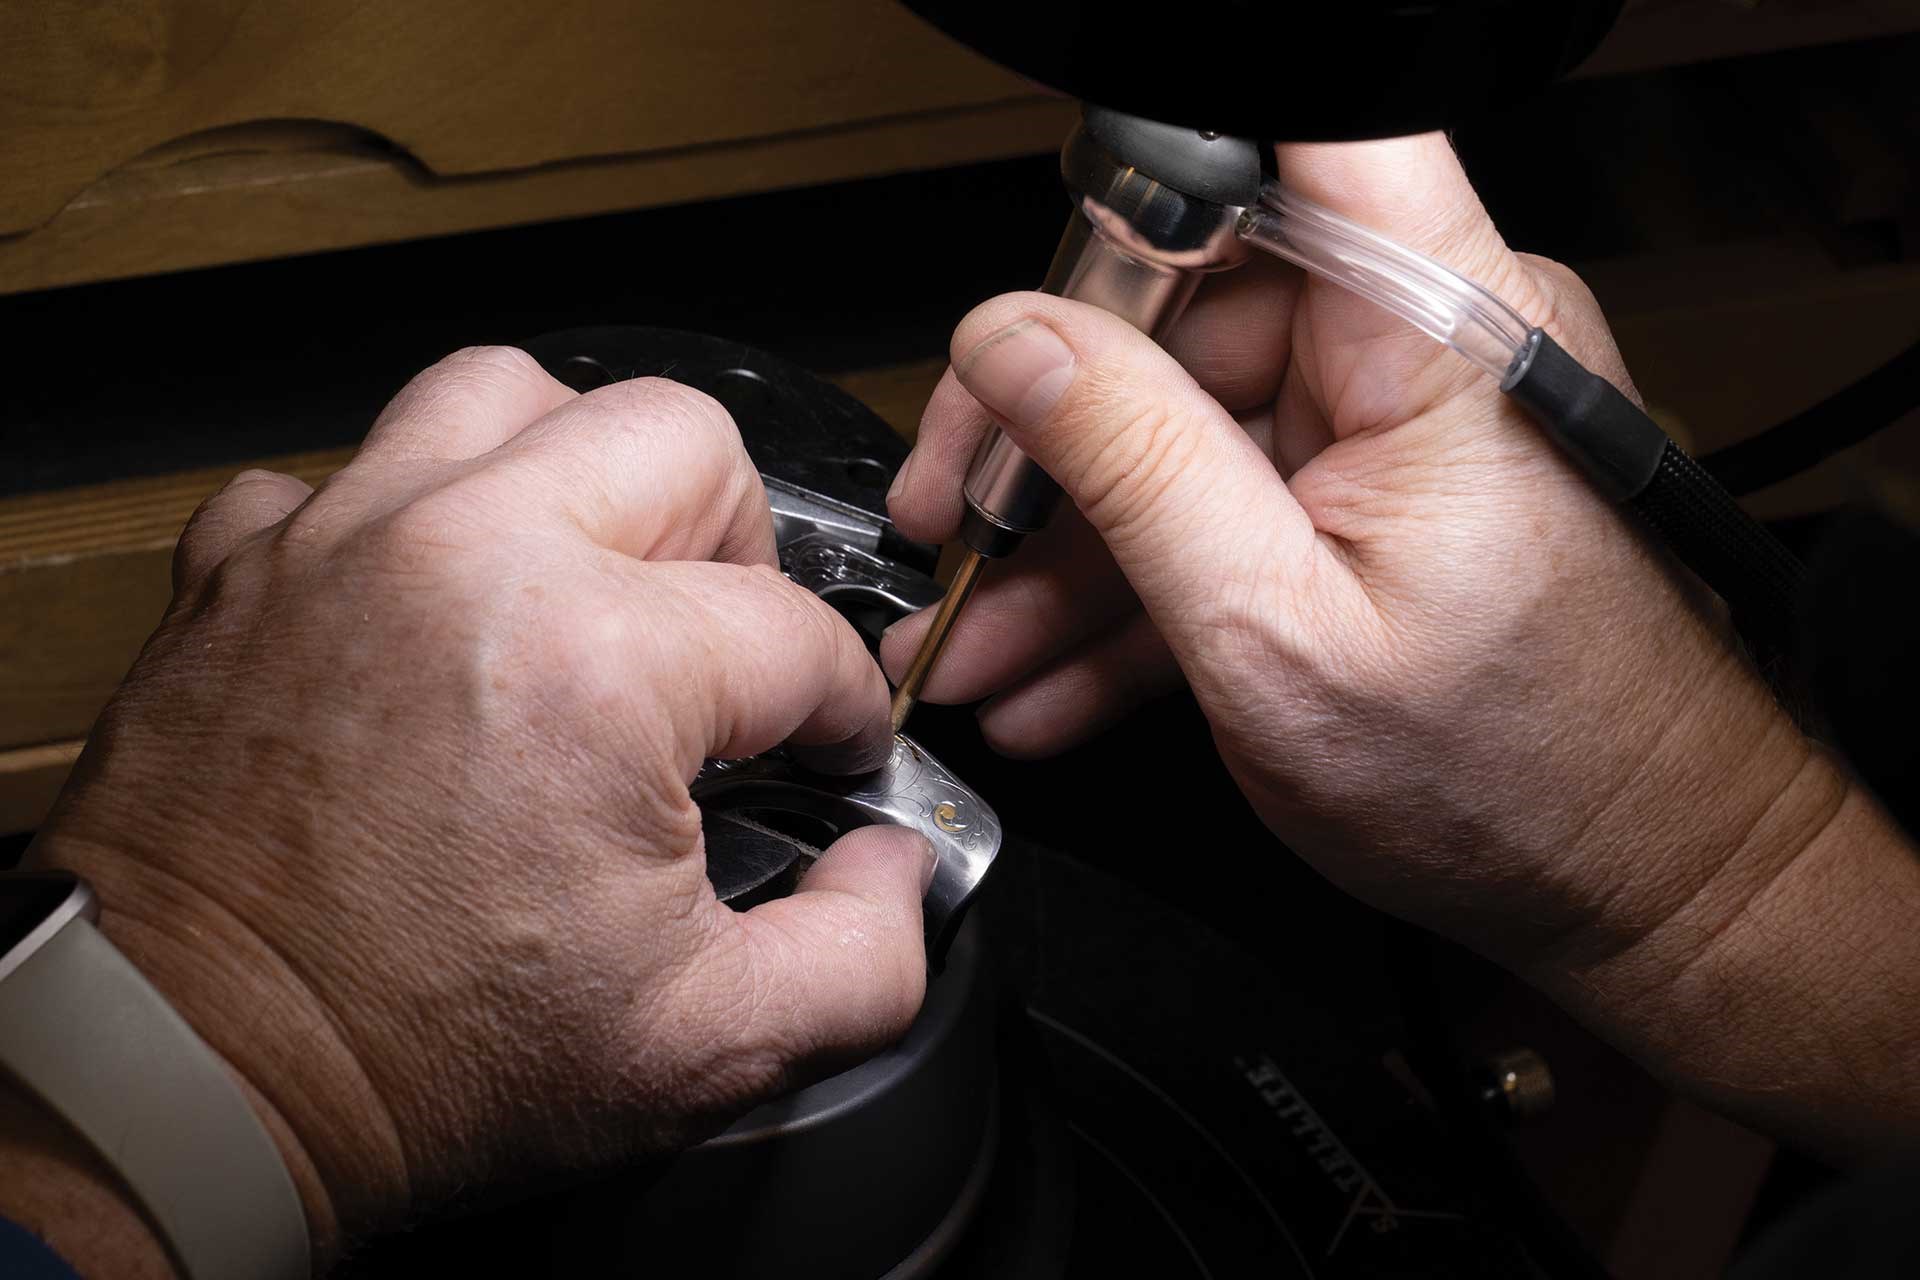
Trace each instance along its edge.
<instances>
[{"instance_id":1,"label":"wooden bench front across the top, interrupted by the black lamp","mask_svg":"<svg viewBox=\"0 0 1920 1280\"><path fill-rule=\"evenodd\" d=\"M0 294L1048 152L893 0L0 8ZM1582 69L1920 31L1910 0L1636 0Z\"/></svg>"}]
</instances>

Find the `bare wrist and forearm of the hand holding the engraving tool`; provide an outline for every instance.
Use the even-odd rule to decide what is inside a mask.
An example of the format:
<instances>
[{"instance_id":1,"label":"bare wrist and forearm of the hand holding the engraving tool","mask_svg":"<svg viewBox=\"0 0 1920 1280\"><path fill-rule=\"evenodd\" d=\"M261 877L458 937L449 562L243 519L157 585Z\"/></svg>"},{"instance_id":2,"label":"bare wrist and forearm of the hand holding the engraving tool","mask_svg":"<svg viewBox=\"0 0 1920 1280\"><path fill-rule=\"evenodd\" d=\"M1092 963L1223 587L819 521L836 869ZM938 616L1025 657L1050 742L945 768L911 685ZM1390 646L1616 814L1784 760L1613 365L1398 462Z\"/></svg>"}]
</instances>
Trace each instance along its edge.
<instances>
[{"instance_id":1,"label":"bare wrist and forearm of the hand holding the engraving tool","mask_svg":"<svg viewBox=\"0 0 1920 1280\"><path fill-rule=\"evenodd\" d=\"M1914 850L1803 747L1672 910L1619 948L1528 977L1676 1088L1857 1163L1920 1144L1916 919Z\"/></svg>"}]
</instances>

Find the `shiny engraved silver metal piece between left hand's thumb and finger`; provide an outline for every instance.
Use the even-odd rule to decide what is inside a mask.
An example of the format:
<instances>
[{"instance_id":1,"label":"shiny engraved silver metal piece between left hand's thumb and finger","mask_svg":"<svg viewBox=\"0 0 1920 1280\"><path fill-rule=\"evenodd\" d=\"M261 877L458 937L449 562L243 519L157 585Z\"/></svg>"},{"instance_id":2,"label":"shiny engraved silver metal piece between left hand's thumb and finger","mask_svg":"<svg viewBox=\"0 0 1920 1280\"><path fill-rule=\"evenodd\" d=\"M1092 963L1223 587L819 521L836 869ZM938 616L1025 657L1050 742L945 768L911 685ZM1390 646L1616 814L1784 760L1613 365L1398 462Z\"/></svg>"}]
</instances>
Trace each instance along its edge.
<instances>
[{"instance_id":1,"label":"shiny engraved silver metal piece between left hand's thumb and finger","mask_svg":"<svg viewBox=\"0 0 1920 1280\"><path fill-rule=\"evenodd\" d=\"M935 856L922 904L931 956L945 950L1000 852L993 806L910 737L895 737L887 764L856 777L812 773L783 750L714 760L693 779L693 798L708 812L801 814L835 833L877 823L922 833Z\"/></svg>"}]
</instances>

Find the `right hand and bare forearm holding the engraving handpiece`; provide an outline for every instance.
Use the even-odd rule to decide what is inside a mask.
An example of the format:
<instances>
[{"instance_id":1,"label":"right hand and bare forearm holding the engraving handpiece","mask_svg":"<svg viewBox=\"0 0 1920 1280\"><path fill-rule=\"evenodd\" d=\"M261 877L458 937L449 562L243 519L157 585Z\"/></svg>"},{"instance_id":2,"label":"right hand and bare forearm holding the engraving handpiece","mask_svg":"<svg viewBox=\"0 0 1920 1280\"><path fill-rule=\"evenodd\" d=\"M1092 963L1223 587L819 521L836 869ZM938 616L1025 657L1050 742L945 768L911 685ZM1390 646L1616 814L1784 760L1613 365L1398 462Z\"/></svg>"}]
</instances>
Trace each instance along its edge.
<instances>
[{"instance_id":1,"label":"right hand and bare forearm holding the engraving handpiece","mask_svg":"<svg viewBox=\"0 0 1920 1280\"><path fill-rule=\"evenodd\" d=\"M1288 146L1279 177L1630 390L1592 296L1507 249L1442 136ZM1204 286L1169 351L1016 294L960 324L952 361L899 528L954 535L995 422L1077 512L989 570L924 699L991 697L987 737L1044 754L1185 681L1256 810L1334 883L1830 1150L1920 1136L1920 869L1697 583L1478 368L1275 263ZM887 635L895 676L925 622ZM1849 935L1897 944L1836 986L1818 942L1841 904ZM1841 992L1895 1025L1807 1015ZM1738 1036L1703 1040L1730 1007ZM1857 1054L1889 1042L1901 1069L1868 1102ZM1776 1086L1784 1048L1816 1088Z\"/></svg>"}]
</instances>

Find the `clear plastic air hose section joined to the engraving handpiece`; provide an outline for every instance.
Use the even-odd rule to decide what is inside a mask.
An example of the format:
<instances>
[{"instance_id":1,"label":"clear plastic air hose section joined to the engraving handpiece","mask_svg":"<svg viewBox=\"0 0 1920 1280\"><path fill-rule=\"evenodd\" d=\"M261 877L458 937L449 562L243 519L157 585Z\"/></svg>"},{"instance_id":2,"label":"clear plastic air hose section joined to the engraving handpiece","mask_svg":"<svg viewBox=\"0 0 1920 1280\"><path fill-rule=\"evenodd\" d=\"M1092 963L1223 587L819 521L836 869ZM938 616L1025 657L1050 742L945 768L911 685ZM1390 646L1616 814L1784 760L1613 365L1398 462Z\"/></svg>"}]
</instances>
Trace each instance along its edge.
<instances>
[{"instance_id":1,"label":"clear plastic air hose section joined to the engraving handpiece","mask_svg":"<svg viewBox=\"0 0 1920 1280\"><path fill-rule=\"evenodd\" d=\"M1392 311L1505 380L1532 326L1498 296L1425 253L1267 182L1238 236Z\"/></svg>"}]
</instances>

